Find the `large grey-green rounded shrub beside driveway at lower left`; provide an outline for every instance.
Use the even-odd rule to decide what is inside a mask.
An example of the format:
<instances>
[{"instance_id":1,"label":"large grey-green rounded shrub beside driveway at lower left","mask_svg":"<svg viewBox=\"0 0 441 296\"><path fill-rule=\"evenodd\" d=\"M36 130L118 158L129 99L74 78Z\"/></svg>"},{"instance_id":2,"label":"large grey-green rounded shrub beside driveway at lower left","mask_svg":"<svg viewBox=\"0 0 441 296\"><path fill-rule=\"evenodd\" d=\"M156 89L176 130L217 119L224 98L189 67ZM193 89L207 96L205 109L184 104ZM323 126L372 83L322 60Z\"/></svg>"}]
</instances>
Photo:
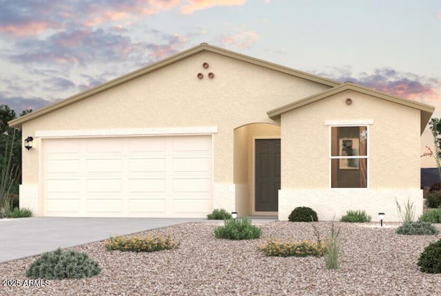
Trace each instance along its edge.
<instances>
[{"instance_id":1,"label":"large grey-green rounded shrub beside driveway at lower left","mask_svg":"<svg viewBox=\"0 0 441 296\"><path fill-rule=\"evenodd\" d=\"M43 279L92 277L101 272L99 264L86 253L57 251L43 253L26 271L27 277Z\"/></svg>"}]
</instances>

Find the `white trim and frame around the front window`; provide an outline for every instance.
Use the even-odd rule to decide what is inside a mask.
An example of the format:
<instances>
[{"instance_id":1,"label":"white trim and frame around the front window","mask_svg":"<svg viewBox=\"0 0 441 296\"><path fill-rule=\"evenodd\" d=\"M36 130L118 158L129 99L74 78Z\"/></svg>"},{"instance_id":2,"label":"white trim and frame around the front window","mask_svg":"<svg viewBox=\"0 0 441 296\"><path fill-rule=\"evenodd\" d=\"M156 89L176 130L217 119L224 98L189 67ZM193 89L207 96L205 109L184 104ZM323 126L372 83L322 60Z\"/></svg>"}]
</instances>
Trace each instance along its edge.
<instances>
[{"instance_id":1,"label":"white trim and frame around the front window","mask_svg":"<svg viewBox=\"0 0 441 296\"><path fill-rule=\"evenodd\" d=\"M330 123L340 123L340 124L330 124ZM345 123L343 123L345 122ZM355 122L355 123L354 123ZM369 122L369 123L367 123ZM360 124L358 124L360 123ZM369 165L369 124L373 124L373 120L327 120L325 121L325 125L329 125L329 189L335 190L335 191L367 191L369 189L369 169L371 166ZM332 156L332 127L366 127L367 132L367 139L366 139L366 156ZM338 188L338 187L332 187L332 160L333 159L342 159L342 158L356 158L356 159L366 159L366 187L365 188L359 188L359 187L353 187L353 188Z\"/></svg>"}]
</instances>

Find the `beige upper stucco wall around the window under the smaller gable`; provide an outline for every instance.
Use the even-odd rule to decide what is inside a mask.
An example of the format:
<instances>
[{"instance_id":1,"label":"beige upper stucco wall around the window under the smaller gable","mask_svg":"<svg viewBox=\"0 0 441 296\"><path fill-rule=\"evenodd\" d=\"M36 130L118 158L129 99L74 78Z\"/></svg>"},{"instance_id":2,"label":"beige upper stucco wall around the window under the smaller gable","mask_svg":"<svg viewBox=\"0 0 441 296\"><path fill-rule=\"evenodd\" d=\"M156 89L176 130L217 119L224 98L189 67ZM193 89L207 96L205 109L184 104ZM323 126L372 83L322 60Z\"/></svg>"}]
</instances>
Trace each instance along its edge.
<instances>
[{"instance_id":1,"label":"beige upper stucco wall around the window under the smaller gable","mask_svg":"<svg viewBox=\"0 0 441 296\"><path fill-rule=\"evenodd\" d=\"M346 105L346 98L353 103ZM420 112L347 91L282 116L282 189L329 188L332 120L369 125L369 189L420 187Z\"/></svg>"}]
</instances>

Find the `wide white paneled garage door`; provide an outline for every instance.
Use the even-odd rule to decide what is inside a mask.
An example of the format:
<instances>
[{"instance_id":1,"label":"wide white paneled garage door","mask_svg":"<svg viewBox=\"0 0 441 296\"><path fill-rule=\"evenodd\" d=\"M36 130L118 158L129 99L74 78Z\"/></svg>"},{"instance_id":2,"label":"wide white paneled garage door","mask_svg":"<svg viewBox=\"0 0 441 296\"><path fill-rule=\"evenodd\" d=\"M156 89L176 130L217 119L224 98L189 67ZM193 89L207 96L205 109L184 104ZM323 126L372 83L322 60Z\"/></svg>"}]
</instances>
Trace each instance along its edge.
<instances>
[{"instance_id":1,"label":"wide white paneled garage door","mask_svg":"<svg viewBox=\"0 0 441 296\"><path fill-rule=\"evenodd\" d=\"M212 137L43 139L48 216L205 217Z\"/></svg>"}]
</instances>

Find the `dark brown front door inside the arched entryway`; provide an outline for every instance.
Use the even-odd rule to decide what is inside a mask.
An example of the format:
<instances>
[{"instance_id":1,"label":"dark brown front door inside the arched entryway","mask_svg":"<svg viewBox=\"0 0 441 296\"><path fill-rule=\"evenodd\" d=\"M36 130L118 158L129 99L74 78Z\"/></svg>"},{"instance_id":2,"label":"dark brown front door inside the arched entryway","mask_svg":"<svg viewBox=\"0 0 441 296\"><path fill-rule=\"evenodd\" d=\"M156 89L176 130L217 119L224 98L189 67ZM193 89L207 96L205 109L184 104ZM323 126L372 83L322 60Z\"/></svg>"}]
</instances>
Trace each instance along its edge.
<instances>
[{"instance_id":1,"label":"dark brown front door inside the arched entryway","mask_svg":"<svg viewBox=\"0 0 441 296\"><path fill-rule=\"evenodd\" d=\"M255 211L278 211L280 139L256 140Z\"/></svg>"}]
</instances>

